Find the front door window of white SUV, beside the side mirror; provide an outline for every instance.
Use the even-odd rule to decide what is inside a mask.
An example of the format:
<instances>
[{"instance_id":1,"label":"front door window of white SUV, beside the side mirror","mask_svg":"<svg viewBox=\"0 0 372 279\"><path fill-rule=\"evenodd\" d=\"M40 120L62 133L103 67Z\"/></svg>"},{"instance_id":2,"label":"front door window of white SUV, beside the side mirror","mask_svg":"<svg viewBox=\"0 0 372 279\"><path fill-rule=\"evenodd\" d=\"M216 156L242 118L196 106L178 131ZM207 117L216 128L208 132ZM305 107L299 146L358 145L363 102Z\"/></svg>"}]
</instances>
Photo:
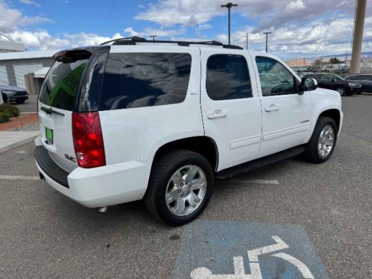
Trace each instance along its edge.
<instances>
[{"instance_id":1,"label":"front door window of white SUV, beside the side mirror","mask_svg":"<svg viewBox=\"0 0 372 279\"><path fill-rule=\"evenodd\" d=\"M294 76L278 61L268 57L256 57L262 96L294 94Z\"/></svg>"}]
</instances>

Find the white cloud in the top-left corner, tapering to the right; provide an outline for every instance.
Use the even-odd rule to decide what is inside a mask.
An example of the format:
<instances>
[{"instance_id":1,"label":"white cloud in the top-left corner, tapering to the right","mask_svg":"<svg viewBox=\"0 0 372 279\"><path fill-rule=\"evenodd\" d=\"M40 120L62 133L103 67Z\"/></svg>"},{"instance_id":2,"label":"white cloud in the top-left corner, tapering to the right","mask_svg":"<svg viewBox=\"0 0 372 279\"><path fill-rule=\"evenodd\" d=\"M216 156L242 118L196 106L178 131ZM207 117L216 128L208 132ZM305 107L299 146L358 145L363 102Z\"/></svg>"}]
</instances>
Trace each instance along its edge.
<instances>
[{"instance_id":1,"label":"white cloud in the top-left corner, tapering to the right","mask_svg":"<svg viewBox=\"0 0 372 279\"><path fill-rule=\"evenodd\" d=\"M53 22L53 20L41 16L25 16L20 10L12 9L0 0L0 30L2 32L11 32L22 26L38 25L43 22Z\"/></svg>"}]
</instances>

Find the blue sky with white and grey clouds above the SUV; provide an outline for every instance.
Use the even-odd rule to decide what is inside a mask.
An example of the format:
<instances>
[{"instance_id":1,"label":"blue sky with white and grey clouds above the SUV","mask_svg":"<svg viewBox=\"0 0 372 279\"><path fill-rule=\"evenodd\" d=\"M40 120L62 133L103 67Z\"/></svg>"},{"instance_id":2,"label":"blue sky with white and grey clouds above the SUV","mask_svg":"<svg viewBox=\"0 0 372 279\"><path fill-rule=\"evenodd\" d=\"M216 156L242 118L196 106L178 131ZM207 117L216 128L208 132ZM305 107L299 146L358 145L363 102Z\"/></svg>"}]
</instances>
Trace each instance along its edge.
<instances>
[{"instance_id":1,"label":"blue sky with white and grey clouds above the SUV","mask_svg":"<svg viewBox=\"0 0 372 279\"><path fill-rule=\"evenodd\" d=\"M95 45L122 36L157 35L227 43L227 0L0 0L0 31L29 50ZM265 48L288 60L350 52L355 0L236 0L232 44ZM234 2L234 3L235 3ZM367 0L363 51L372 51Z\"/></svg>"}]
</instances>

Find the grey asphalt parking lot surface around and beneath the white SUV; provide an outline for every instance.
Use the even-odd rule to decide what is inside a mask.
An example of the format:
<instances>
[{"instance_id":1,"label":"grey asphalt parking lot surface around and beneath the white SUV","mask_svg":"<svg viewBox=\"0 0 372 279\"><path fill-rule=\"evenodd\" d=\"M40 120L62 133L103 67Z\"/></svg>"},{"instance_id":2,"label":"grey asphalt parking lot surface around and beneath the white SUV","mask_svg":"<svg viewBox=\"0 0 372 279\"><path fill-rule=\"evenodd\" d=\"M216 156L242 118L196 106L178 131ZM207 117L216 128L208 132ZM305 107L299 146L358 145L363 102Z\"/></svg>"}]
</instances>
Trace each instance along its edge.
<instances>
[{"instance_id":1,"label":"grey asphalt parking lot surface around and beneath the white SUV","mask_svg":"<svg viewBox=\"0 0 372 279\"><path fill-rule=\"evenodd\" d=\"M7 151L0 278L254 279L242 274L257 264L262 278L371 278L371 107L372 96L343 97L329 161L294 158L219 182L204 214L179 228L156 221L142 202L105 214L85 208L37 179L33 144Z\"/></svg>"}]
</instances>

